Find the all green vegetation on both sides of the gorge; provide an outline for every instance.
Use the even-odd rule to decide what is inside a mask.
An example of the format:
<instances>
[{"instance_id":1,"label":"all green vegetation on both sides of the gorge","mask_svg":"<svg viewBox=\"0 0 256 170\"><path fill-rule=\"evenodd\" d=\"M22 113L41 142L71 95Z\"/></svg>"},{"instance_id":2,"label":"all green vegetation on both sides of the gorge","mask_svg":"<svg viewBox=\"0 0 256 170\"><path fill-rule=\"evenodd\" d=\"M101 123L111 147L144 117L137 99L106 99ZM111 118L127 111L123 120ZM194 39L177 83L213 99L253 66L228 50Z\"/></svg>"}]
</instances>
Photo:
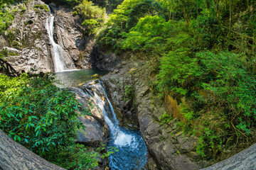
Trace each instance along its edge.
<instances>
[{"instance_id":1,"label":"all green vegetation on both sides of the gorge","mask_svg":"<svg viewBox=\"0 0 256 170\"><path fill-rule=\"evenodd\" d=\"M14 19L15 8L2 8L12 2L0 1L0 34ZM122 1L55 2L72 7L85 34L91 35L105 23L105 8L112 11ZM97 44L149 61L157 72L149 82L154 94L176 98L181 127L199 137L198 154L205 157L210 147L216 156L223 149L235 150L238 142L255 142L255 8L253 0L124 0L97 35ZM14 140L66 168L97 164L97 152L73 144L81 125L79 105L70 92L58 89L49 77L26 74L0 74L0 87L0 128ZM125 95L126 100L134 95L130 86ZM159 120L168 124L171 118L163 113Z\"/></svg>"}]
</instances>

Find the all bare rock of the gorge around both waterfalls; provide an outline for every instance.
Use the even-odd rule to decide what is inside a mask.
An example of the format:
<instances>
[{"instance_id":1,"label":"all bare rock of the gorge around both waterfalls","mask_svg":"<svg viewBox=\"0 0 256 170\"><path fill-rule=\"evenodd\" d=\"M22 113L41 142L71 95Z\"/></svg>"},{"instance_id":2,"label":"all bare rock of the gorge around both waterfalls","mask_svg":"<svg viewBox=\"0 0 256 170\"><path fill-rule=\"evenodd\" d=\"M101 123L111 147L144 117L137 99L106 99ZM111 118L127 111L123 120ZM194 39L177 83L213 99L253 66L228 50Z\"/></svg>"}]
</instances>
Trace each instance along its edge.
<instances>
[{"instance_id":1,"label":"all bare rock of the gorge around both waterfalls","mask_svg":"<svg viewBox=\"0 0 256 170\"><path fill-rule=\"evenodd\" d=\"M0 47L8 53L8 62L21 72L55 72L53 47L46 29L50 17L48 6L43 1L31 1L23 11L24 4L18 5L16 17L5 36L0 37ZM215 163L213 152L208 150L206 159L196 153L198 138L184 134L178 125L178 118L168 124L161 123L161 115L172 115L166 103L153 94L149 84L153 79L154 68L149 62L138 60L132 53L117 56L100 50L95 40L83 35L85 28L80 26L80 18L73 16L70 9L50 4L54 18L53 39L66 52L68 61L76 69L95 67L110 70L110 74L100 78L107 91L119 124L139 130L149 154L145 169L202 169ZM82 106L93 103L85 89L97 91L99 80L88 81L78 87L68 87L75 93ZM102 91L98 91L102 94ZM106 99L105 99L106 100ZM78 131L77 142L99 147L107 144L110 128L104 114L95 103L92 115L80 118L86 126ZM174 106L173 106L174 107ZM100 166L107 167L108 160L100 159Z\"/></svg>"}]
</instances>

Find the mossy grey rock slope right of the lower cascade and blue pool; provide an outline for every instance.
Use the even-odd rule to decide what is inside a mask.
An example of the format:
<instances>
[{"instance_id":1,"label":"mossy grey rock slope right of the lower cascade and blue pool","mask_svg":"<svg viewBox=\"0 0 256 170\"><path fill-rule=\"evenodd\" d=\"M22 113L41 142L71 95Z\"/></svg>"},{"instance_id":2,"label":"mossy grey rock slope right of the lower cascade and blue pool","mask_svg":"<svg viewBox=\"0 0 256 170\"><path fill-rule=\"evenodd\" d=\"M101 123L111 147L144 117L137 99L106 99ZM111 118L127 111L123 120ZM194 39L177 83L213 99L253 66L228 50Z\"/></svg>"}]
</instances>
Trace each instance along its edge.
<instances>
[{"instance_id":1,"label":"mossy grey rock slope right of the lower cascade and blue pool","mask_svg":"<svg viewBox=\"0 0 256 170\"><path fill-rule=\"evenodd\" d=\"M143 61L127 61L117 67L119 70L102 77L102 81L109 91L112 104L123 111L121 119L127 119L126 124L138 121L139 130L158 164L158 169L201 169L205 162L196 154L197 137L183 135L176 124L177 119L168 125L160 123L159 117L168 113L168 109L164 102L155 99L151 94L148 86L150 65ZM124 101L127 98L127 85L134 89L134 96L129 99L133 102L132 107L129 101ZM132 115L127 114L128 112ZM148 164L147 169L155 168L151 163Z\"/></svg>"}]
</instances>

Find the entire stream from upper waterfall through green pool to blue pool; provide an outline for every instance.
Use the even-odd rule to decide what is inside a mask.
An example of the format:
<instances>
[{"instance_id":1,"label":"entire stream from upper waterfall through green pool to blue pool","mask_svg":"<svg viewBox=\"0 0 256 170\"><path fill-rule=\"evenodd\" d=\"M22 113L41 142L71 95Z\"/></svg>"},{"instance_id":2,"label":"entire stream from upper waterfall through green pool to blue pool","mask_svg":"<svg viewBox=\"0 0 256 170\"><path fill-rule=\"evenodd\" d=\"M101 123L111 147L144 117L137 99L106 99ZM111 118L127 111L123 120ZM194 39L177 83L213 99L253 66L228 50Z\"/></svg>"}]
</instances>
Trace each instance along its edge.
<instances>
[{"instance_id":1,"label":"entire stream from upper waterfall through green pool to blue pool","mask_svg":"<svg viewBox=\"0 0 256 170\"><path fill-rule=\"evenodd\" d=\"M49 7L49 6L48 6ZM50 7L49 7L50 9ZM48 31L50 44L53 46L53 62L55 68L55 79L59 82L56 84L60 88L78 86L82 82L94 79L93 75L102 76L107 74L105 71L97 69L75 69L73 62L68 60L67 54L56 44L53 39L54 16L50 16L46 21L46 30ZM65 57L64 57L65 56ZM110 154L109 167L113 170L134 170L145 169L147 162L147 148L138 130L131 130L119 126L119 122L114 113L114 108L110 103L107 93L102 86L102 82L92 86L92 89L82 86L87 95L92 98L102 113L110 129L110 137L107 141L107 149L117 148L118 152ZM86 129L86 128L85 128Z\"/></svg>"}]
</instances>

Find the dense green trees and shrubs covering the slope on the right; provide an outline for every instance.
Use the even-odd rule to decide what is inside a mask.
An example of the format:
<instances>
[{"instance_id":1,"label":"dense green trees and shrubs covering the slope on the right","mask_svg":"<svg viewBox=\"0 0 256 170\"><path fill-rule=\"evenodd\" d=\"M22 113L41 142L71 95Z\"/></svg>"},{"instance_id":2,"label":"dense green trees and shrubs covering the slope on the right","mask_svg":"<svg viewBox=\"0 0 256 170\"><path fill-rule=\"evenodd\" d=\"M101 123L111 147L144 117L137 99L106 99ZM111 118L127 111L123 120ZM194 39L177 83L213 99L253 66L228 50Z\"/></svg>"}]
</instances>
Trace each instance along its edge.
<instances>
[{"instance_id":1,"label":"dense green trees and shrubs covering the slope on the right","mask_svg":"<svg viewBox=\"0 0 256 170\"><path fill-rule=\"evenodd\" d=\"M228 140L254 139L255 7L252 0L125 0L97 43L148 60L158 72L154 93L180 101L198 154L210 147L216 155Z\"/></svg>"}]
</instances>

